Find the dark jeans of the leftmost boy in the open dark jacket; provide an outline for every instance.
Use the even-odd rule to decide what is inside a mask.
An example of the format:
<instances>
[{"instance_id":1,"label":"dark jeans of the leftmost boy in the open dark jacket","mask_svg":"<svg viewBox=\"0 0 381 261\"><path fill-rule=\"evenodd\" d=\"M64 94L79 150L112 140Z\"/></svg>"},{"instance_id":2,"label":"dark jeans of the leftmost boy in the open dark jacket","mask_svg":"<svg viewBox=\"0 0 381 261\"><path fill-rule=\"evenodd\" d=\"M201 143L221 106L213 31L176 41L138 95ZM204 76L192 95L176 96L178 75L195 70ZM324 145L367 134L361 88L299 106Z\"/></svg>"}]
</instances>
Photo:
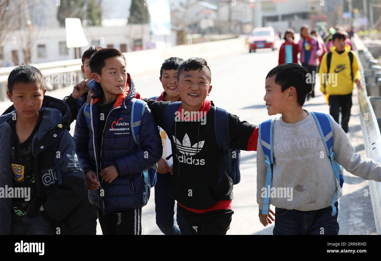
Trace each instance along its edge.
<instances>
[{"instance_id":1,"label":"dark jeans of the leftmost boy in the open dark jacket","mask_svg":"<svg viewBox=\"0 0 381 261\"><path fill-rule=\"evenodd\" d=\"M12 216L11 235L54 235L53 224L40 213L32 216Z\"/></svg>"}]
</instances>

